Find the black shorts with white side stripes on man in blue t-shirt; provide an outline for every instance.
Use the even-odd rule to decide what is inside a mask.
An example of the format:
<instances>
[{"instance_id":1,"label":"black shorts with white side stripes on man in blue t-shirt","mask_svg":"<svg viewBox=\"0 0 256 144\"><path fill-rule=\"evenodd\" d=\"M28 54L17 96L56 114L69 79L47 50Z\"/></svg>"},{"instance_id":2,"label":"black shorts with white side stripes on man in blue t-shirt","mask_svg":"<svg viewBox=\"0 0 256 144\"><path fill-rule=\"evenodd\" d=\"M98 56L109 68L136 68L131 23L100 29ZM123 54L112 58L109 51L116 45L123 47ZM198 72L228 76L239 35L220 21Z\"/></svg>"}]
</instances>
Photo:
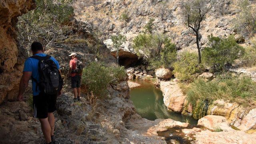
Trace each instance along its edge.
<instances>
[{"instance_id":1,"label":"black shorts with white side stripes on man in blue t-shirt","mask_svg":"<svg viewBox=\"0 0 256 144\"><path fill-rule=\"evenodd\" d=\"M46 95L39 93L33 96L34 118L47 118L49 112L56 110L56 95Z\"/></svg>"}]
</instances>

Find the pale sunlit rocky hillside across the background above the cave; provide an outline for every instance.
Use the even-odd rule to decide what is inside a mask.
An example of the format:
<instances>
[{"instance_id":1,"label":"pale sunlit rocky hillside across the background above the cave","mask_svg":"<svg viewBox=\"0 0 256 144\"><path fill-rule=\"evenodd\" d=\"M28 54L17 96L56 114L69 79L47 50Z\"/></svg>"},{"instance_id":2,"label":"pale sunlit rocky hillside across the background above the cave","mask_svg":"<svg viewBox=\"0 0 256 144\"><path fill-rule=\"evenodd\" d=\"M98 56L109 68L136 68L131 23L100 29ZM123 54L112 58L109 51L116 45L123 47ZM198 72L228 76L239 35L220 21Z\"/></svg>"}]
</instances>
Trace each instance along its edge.
<instances>
[{"instance_id":1,"label":"pale sunlit rocky hillside across the background above the cave","mask_svg":"<svg viewBox=\"0 0 256 144\"><path fill-rule=\"evenodd\" d=\"M237 39L240 38L232 24L232 20L239 12L237 2L237 0L217 2L202 23L200 30L201 46L207 43L207 36L210 34L221 37L235 34ZM75 5L78 4L81 7L79 10L76 9L76 18L83 22L91 22L94 25L100 23L100 27L104 28L101 31L106 34L104 42L112 51L115 50L112 48L110 36L123 33L127 37L127 42L123 44L122 49L134 53L132 40L144 31L144 26L150 18L154 18L154 33L166 34L178 49L196 50L195 36L182 22L180 0L125 0L121 2L119 0L102 0L97 11L94 10L92 4L77 0ZM120 20L124 10L128 11L130 18L127 22L127 33L124 22Z\"/></svg>"}]
</instances>

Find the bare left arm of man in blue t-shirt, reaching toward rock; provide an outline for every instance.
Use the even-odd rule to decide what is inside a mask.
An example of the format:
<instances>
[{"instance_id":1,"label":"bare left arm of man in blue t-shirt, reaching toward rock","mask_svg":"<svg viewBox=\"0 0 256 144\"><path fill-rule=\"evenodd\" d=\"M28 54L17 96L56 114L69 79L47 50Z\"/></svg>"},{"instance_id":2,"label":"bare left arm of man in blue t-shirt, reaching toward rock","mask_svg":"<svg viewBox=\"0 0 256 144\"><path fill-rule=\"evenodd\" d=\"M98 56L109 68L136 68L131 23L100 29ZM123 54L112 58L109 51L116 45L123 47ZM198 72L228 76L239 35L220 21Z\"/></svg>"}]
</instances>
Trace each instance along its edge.
<instances>
[{"instance_id":1,"label":"bare left arm of man in blue t-shirt, reaching toward rock","mask_svg":"<svg viewBox=\"0 0 256 144\"><path fill-rule=\"evenodd\" d=\"M23 72L22 78L20 80L20 89L19 89L19 94L18 94L19 101L23 100L23 95L28 86L28 82L29 82L31 75L32 75L32 72Z\"/></svg>"}]
</instances>

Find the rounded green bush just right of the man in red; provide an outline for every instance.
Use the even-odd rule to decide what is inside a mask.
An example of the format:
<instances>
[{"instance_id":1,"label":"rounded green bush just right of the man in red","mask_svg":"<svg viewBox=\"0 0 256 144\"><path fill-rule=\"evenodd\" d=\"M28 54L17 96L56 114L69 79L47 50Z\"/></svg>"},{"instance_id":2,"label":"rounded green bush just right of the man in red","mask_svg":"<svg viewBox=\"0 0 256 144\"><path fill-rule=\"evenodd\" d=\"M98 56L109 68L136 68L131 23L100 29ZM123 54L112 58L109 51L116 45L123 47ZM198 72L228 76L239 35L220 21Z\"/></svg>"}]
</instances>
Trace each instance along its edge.
<instances>
[{"instance_id":1,"label":"rounded green bush just right of the man in red","mask_svg":"<svg viewBox=\"0 0 256 144\"><path fill-rule=\"evenodd\" d=\"M106 98L108 84L118 82L124 76L126 76L124 67L92 62L83 70L82 84L97 98Z\"/></svg>"}]
</instances>

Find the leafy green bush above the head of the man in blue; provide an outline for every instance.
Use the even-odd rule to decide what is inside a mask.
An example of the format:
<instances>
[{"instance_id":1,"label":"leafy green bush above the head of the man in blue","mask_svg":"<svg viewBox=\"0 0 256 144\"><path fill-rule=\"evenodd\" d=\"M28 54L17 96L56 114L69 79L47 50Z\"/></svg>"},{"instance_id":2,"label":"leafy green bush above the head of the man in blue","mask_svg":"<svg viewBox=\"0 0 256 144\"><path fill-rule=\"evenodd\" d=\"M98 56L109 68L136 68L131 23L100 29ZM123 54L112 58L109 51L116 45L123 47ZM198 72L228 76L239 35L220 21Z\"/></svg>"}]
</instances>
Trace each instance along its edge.
<instances>
[{"instance_id":1,"label":"leafy green bush above the head of the man in blue","mask_svg":"<svg viewBox=\"0 0 256 144\"><path fill-rule=\"evenodd\" d=\"M41 42L47 49L51 44L70 37L72 26L69 22L73 15L71 2L72 0L36 0L36 9L18 17L18 40L27 52L34 41Z\"/></svg>"}]
</instances>

